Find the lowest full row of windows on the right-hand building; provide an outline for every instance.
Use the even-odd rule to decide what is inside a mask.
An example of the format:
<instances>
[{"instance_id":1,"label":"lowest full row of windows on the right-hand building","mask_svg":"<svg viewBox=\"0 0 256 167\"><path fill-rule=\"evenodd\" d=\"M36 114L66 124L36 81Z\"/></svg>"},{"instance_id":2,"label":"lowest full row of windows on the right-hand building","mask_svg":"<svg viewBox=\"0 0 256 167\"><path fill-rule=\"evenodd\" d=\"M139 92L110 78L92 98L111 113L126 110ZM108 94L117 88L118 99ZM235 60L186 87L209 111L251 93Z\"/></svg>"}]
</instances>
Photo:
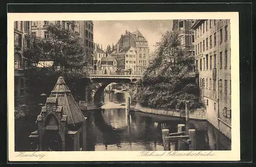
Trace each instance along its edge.
<instances>
[{"instance_id":1,"label":"lowest full row of windows on the right-hand building","mask_svg":"<svg viewBox=\"0 0 256 167\"><path fill-rule=\"evenodd\" d=\"M200 82L199 83L200 87L204 87L206 89L209 88L209 90L212 89L212 90L216 91L216 80L209 79L209 85L208 85L208 78L207 79L200 78L199 82ZM219 80L219 91L220 92L223 91L223 87L222 86L223 86L223 82L222 82L222 80ZM224 80L224 92L227 92L227 91L228 91L228 81ZM231 80L229 82L229 93L231 94Z\"/></svg>"}]
</instances>

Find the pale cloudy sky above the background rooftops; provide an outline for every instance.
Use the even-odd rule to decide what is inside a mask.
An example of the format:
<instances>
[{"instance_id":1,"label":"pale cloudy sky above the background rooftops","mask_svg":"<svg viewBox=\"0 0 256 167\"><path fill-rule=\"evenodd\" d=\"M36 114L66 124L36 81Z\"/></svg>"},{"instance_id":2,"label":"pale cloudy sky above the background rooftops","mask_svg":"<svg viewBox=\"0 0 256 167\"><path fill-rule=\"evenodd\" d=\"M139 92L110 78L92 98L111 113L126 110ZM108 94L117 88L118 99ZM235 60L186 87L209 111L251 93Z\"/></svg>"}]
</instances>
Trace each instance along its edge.
<instances>
[{"instance_id":1,"label":"pale cloudy sky above the background rooftops","mask_svg":"<svg viewBox=\"0 0 256 167\"><path fill-rule=\"evenodd\" d=\"M172 30L173 20L97 20L93 21L93 40L106 46L115 43L125 34L125 30L135 32L137 29L148 41L150 52L154 52L155 43L161 39L161 34Z\"/></svg>"}]
</instances>

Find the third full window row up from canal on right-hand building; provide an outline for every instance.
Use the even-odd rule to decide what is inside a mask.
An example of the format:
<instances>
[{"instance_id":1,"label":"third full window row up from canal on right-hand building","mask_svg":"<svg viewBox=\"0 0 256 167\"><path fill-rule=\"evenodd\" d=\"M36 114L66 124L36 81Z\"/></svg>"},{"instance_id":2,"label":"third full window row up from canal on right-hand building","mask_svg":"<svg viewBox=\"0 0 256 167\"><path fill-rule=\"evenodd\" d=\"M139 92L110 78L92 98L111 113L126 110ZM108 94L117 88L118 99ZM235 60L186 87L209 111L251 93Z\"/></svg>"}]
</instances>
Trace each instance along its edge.
<instances>
[{"instance_id":1,"label":"third full window row up from canal on right-hand building","mask_svg":"<svg viewBox=\"0 0 256 167\"><path fill-rule=\"evenodd\" d=\"M225 26L225 42L227 41L227 26ZM217 45L217 42L216 42L216 37L217 34L214 33L214 46ZM209 37L209 45L210 45L210 49L212 48L212 35L210 35ZM222 35L222 29L220 29L220 43L222 43L222 39L223 39L223 35ZM202 50L202 43L203 43L203 50ZM199 49L199 46L200 46L200 49ZM198 43L196 46L195 46L195 51L196 51L196 55L199 54L199 53L202 53L202 51L204 52L205 51L205 46L206 46L206 51L208 50L208 37L203 40L202 42Z\"/></svg>"}]
</instances>

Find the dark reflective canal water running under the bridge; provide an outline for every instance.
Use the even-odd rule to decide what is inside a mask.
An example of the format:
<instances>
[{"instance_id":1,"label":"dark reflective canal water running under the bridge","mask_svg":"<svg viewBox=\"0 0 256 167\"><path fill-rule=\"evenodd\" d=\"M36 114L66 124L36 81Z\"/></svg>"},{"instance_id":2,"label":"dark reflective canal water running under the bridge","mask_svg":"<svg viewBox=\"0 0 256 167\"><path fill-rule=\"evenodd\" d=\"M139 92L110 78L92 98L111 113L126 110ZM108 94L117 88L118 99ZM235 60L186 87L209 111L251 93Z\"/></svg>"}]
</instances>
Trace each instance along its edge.
<instances>
[{"instance_id":1,"label":"dark reflective canal water running under the bridge","mask_svg":"<svg viewBox=\"0 0 256 167\"><path fill-rule=\"evenodd\" d=\"M119 108L83 111L87 120L88 151L162 151L162 128L177 132L181 118L125 110L129 93L105 94L105 104ZM36 115L26 115L15 121L15 151L30 151L28 136L36 130ZM188 127L196 129L197 150L230 150L231 141L211 124L190 120Z\"/></svg>"}]
</instances>

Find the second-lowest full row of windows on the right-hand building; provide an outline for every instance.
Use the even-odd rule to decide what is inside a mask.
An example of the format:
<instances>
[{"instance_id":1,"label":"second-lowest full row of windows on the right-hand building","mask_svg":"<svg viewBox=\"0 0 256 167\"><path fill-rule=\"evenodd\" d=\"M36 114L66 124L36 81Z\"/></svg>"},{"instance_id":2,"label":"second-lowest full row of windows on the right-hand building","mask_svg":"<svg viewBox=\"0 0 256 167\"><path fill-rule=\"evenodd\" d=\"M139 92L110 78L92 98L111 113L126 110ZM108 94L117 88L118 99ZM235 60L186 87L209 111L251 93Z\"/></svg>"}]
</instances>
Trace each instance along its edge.
<instances>
[{"instance_id":1,"label":"second-lowest full row of windows on the right-hand building","mask_svg":"<svg viewBox=\"0 0 256 167\"><path fill-rule=\"evenodd\" d=\"M208 58L209 58L209 61L208 61ZM212 59L214 61L213 63L213 67L212 67ZM224 68L227 69L227 59L228 59L228 54L227 54L227 51L224 52ZM202 62L203 60L203 62ZM209 62L209 63L208 63ZM205 55L204 58L201 58L200 59L200 64L199 64L199 67L200 67L200 70L202 71L202 64L203 64L203 70L206 70L208 68L212 69L212 68L216 68L216 54L214 55L214 57L212 58L212 56L208 57L208 54ZM209 65L209 66L208 66ZM219 55L219 68L222 69L223 67L223 52L220 52L220 55ZM231 65L230 65L231 67ZM198 70L198 60L196 60L196 70Z\"/></svg>"}]
</instances>

